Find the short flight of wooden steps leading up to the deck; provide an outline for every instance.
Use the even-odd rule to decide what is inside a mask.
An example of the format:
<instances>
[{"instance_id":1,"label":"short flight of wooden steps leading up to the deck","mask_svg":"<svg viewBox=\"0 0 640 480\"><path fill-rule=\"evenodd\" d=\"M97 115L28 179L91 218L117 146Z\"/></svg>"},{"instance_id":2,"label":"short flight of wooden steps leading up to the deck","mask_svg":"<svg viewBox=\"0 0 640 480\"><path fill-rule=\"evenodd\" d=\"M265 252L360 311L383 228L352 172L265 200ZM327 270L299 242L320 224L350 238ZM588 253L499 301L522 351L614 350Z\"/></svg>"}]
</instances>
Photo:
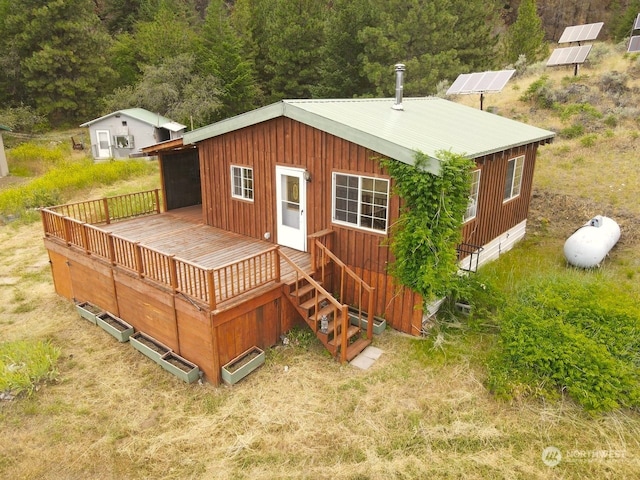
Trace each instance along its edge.
<instances>
[{"instance_id":1,"label":"short flight of wooden steps leading up to the deck","mask_svg":"<svg viewBox=\"0 0 640 480\"><path fill-rule=\"evenodd\" d=\"M285 285L286 297L331 355L339 355L341 361L350 362L371 344L371 340L363 336L363 330L359 326L350 324L348 306L341 305L322 288L321 282L309 277L299 277ZM346 322L346 328L343 322Z\"/></svg>"}]
</instances>

